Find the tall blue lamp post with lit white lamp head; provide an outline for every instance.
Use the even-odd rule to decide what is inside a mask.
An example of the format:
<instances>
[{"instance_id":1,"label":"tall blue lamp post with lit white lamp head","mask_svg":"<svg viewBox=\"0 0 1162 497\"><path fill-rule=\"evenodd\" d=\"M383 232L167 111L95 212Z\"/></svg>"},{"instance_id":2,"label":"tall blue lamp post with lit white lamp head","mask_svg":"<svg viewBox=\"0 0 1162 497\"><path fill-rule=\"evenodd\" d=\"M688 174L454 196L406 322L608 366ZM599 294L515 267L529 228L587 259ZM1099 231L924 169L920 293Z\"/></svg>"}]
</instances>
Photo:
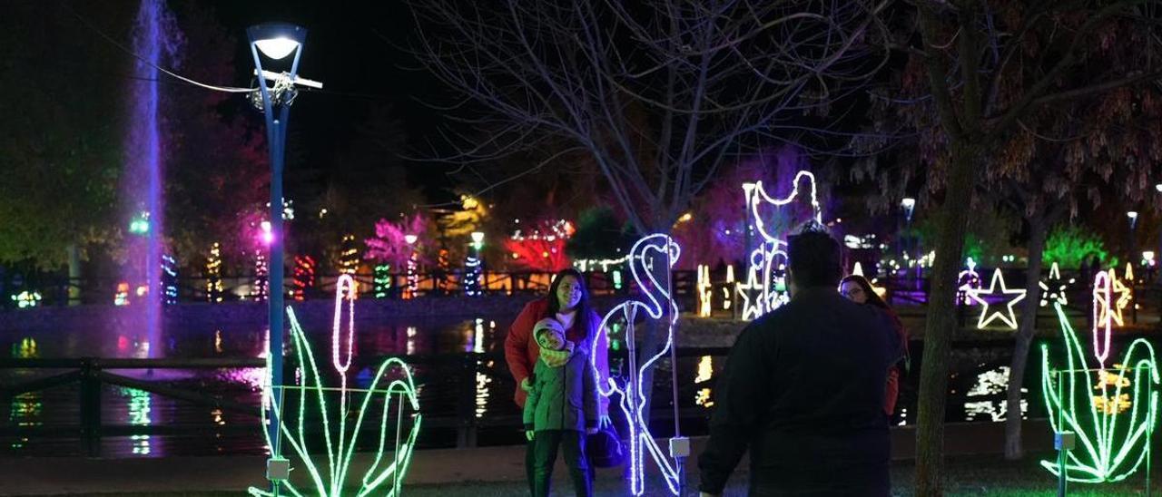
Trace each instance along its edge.
<instances>
[{"instance_id":1,"label":"tall blue lamp post with lit white lamp head","mask_svg":"<svg viewBox=\"0 0 1162 497\"><path fill-rule=\"evenodd\" d=\"M290 116L290 102L294 100L294 82L299 72L299 57L307 30L293 24L267 23L246 29L250 38L250 52L254 57L254 73L258 77L258 96L261 96L263 115L266 116L266 144L271 153L271 269L270 269L270 348L266 351L271 363L271 386L282 384L282 166L286 157L287 118ZM275 81L267 88L267 73L263 71L263 58L259 52L271 59L284 59L294 53L288 77ZM287 84L289 81L289 85ZM256 99L257 100L257 99ZM259 102L254 102L258 105ZM279 446L279 405L282 390L274 389L274 405L271 406L271 424L267 426L271 439L271 456L278 456Z\"/></svg>"}]
</instances>

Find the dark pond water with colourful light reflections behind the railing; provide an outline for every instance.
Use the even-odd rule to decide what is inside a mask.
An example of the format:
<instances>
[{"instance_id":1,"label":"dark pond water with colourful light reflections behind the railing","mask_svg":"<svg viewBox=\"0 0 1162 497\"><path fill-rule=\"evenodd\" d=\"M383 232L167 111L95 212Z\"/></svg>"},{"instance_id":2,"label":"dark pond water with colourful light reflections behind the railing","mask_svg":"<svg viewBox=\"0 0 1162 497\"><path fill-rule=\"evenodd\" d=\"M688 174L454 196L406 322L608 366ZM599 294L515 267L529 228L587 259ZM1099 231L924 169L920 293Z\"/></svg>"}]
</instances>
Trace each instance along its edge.
<instances>
[{"instance_id":1,"label":"dark pond water with colourful light reflections behind the railing","mask_svg":"<svg viewBox=\"0 0 1162 497\"><path fill-rule=\"evenodd\" d=\"M421 447L453 447L457 424L479 424L475 444L519 444L519 411L511 401L514 386L503 356L503 339L510 316L413 318L397 322L357 322L354 344L356 382L371 375L383 356L403 355L413 365L425 419L447 423L425 425ZM329 327L329 326L328 326ZM307 330L316 354L330 358L330 330ZM3 333L0 351L13 358L257 358L265 348L265 330L256 326L166 330L163 344L146 344L143 337L112 330L77 330L59 333ZM1116 353L1120 340L1116 340ZM1010 361L1009 343L955 348L949 379L948 422L1000 422L1005 412L1005 387ZM894 424L914 423L923 344L912 344L911 373L902 379ZM1045 417L1039 377L1039 347L1034 346L1026 374L1023 416ZM325 360L324 360L325 361ZM715 376L722 355L682 354L677 361L677 404L682 432L705 434L713 405ZM329 361L325 361L329 362ZM616 366L615 366L616 367ZM63 373L3 370L0 383L22 382ZM110 373L162 384L221 395L253 405L257 412L261 369L157 369L110 370ZM289 373L288 373L289 374ZM657 435L673 432L670 369L662 361L655 375L653 424ZM0 401L0 455L80 455L84 447L74 430L80 424L80 389L77 383L53 387ZM220 453L260 454L261 432L254 416L224 412L131 388L107 386L102 390L105 425L149 426L150 434L110 432L101 441L102 456L207 455ZM425 420L425 423L428 423ZM27 437L15 428L33 428ZM180 433L172 433L180 430Z\"/></svg>"}]
</instances>

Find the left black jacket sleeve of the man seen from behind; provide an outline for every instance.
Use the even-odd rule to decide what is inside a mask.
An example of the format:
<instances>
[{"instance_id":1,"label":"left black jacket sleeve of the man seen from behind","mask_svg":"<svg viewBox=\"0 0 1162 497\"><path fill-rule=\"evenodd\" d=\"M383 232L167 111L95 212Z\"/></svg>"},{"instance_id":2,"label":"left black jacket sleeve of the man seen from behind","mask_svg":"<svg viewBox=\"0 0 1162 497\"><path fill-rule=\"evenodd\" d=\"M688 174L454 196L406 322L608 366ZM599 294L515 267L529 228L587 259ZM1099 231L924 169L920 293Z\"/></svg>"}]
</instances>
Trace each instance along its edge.
<instances>
[{"instance_id":1,"label":"left black jacket sleeve of the man seen from behind","mask_svg":"<svg viewBox=\"0 0 1162 497\"><path fill-rule=\"evenodd\" d=\"M770 347L761 344L761 332L748 325L731 348L715 391L715 413L710 418L710 440L698 456L700 490L719 495L726 487L749 440L759 430L767 398L767 367Z\"/></svg>"}]
</instances>

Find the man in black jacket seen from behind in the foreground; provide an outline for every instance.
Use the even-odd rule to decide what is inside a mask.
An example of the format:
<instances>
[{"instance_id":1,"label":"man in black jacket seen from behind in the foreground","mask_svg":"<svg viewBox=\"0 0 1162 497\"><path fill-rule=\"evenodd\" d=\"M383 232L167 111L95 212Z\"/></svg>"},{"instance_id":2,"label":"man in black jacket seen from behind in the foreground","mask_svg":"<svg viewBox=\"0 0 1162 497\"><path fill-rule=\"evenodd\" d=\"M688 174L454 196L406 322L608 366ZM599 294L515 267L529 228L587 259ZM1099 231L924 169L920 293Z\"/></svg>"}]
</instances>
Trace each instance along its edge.
<instances>
[{"instance_id":1,"label":"man in black jacket seen from behind in the foreground","mask_svg":"<svg viewBox=\"0 0 1162 497\"><path fill-rule=\"evenodd\" d=\"M703 496L747 451L751 496L890 494L884 383L902 345L887 314L838 293L840 260L825 232L788 240L790 302L743 330L718 380Z\"/></svg>"}]
</instances>

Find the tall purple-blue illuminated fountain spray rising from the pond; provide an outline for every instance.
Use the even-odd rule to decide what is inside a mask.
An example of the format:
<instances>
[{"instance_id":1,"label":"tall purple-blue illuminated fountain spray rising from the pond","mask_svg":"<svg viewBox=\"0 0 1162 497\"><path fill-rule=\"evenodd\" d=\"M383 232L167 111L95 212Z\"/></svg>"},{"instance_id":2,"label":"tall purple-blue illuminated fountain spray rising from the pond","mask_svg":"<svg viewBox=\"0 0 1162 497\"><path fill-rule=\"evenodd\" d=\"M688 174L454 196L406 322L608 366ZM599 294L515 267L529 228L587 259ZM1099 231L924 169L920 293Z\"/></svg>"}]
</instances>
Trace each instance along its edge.
<instances>
[{"instance_id":1,"label":"tall purple-blue illuminated fountain spray rising from the pond","mask_svg":"<svg viewBox=\"0 0 1162 497\"><path fill-rule=\"evenodd\" d=\"M125 171L122 175L122 208L128 226L127 260L121 281L129 287L129 303L139 310L138 330L153 344L162 329L162 203L163 157L158 107L158 70L178 48L178 31L164 0L142 0L132 31L132 50L141 59L129 80L129 128L125 136ZM152 353L151 353L152 354Z\"/></svg>"}]
</instances>

